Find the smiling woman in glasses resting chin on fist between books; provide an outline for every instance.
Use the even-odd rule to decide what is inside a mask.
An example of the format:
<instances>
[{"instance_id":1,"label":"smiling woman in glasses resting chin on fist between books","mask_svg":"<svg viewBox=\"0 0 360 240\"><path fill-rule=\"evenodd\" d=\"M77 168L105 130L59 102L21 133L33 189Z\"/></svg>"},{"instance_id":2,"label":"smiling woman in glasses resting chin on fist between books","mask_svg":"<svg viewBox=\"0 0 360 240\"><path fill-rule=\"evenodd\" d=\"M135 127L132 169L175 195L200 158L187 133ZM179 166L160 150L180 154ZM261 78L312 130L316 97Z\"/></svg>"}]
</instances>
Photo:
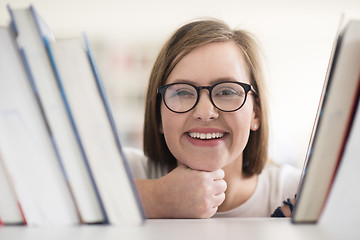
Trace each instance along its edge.
<instances>
[{"instance_id":1,"label":"smiling woman in glasses resting chin on fist between books","mask_svg":"<svg viewBox=\"0 0 360 240\"><path fill-rule=\"evenodd\" d=\"M154 64L144 153L127 149L148 218L269 217L300 172L268 163L258 47L217 20L182 26Z\"/></svg>"}]
</instances>

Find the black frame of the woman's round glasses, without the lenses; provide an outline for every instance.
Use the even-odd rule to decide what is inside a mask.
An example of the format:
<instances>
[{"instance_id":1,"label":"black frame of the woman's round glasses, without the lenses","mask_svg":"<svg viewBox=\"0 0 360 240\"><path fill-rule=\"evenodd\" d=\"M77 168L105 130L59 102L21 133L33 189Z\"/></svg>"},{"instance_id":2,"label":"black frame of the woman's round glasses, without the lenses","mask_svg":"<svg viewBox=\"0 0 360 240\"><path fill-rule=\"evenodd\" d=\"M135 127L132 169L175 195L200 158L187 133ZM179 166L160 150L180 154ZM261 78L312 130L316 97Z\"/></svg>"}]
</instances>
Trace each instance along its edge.
<instances>
[{"instance_id":1,"label":"black frame of the woman's round glasses, without the lenses","mask_svg":"<svg viewBox=\"0 0 360 240\"><path fill-rule=\"evenodd\" d=\"M240 85L244 90L245 90L245 98L244 98L244 102L236 109L234 110L223 110L221 108L219 108L218 106L216 106L216 104L214 103L213 99L212 99L212 90L219 84L222 84L222 83L235 83L235 84L238 84ZM192 106L189 110L186 110L186 111L174 111L173 109L171 109L166 101L165 101L165 91L167 88L171 87L172 85L175 85L175 84L188 84L192 87L194 87L196 89L196 92L197 92L197 98L196 98L196 101L194 103L194 106ZM165 106L167 107L167 109L169 109L170 111L172 112L175 112L175 113L186 113L186 112L189 112L191 111L192 109L194 109L194 107L198 104L199 102L199 99L200 99L200 91L203 90L203 89L207 89L209 91L209 96L210 96L210 101L211 103L217 108L219 109L220 111L222 112L235 112L237 110L239 110L242 106L244 106L245 102L246 102L246 99L247 99L247 95L250 91L252 91L253 93L255 93L257 95L257 92L255 91L255 89L253 88L252 85L250 84L247 84L247 83L243 83L243 82L235 82L235 81L223 81L223 82L218 82L218 83L215 83L211 86L195 86L194 84L191 84L191 83L182 83L182 82L177 82L177 83L170 83L170 84L167 84L167 85L164 85L164 86L161 86L157 89L157 94L160 94L161 95L161 98L165 104Z\"/></svg>"}]
</instances>

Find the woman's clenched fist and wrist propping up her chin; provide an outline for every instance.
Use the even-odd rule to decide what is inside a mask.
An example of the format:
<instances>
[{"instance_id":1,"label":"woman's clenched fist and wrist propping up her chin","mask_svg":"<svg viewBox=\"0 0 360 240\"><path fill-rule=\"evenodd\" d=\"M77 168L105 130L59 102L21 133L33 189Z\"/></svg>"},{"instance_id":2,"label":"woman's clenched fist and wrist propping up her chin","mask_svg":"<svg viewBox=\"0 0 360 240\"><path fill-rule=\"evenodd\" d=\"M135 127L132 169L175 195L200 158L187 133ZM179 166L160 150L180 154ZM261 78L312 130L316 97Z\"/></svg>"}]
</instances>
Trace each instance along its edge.
<instances>
[{"instance_id":1,"label":"woman's clenched fist and wrist propping up her chin","mask_svg":"<svg viewBox=\"0 0 360 240\"><path fill-rule=\"evenodd\" d=\"M148 218L210 218L225 200L222 169L206 172L179 165L156 180L136 180Z\"/></svg>"}]
</instances>

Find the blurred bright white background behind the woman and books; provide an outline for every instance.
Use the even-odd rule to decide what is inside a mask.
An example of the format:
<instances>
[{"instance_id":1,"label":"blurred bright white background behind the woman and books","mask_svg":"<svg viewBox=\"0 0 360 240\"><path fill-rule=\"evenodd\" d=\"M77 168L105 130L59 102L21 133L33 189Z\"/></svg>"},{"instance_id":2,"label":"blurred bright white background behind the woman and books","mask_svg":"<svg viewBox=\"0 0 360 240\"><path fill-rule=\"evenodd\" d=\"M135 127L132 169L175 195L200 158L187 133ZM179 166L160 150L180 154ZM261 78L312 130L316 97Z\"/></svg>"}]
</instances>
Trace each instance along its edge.
<instances>
[{"instance_id":1,"label":"blurred bright white background behind the woman and books","mask_svg":"<svg viewBox=\"0 0 360 240\"><path fill-rule=\"evenodd\" d=\"M341 16L360 19L359 0L0 0L0 26L9 23L8 4L32 4L56 38L87 34L122 143L138 148L150 71L175 29L212 17L254 33L265 56L270 155L298 167Z\"/></svg>"}]
</instances>

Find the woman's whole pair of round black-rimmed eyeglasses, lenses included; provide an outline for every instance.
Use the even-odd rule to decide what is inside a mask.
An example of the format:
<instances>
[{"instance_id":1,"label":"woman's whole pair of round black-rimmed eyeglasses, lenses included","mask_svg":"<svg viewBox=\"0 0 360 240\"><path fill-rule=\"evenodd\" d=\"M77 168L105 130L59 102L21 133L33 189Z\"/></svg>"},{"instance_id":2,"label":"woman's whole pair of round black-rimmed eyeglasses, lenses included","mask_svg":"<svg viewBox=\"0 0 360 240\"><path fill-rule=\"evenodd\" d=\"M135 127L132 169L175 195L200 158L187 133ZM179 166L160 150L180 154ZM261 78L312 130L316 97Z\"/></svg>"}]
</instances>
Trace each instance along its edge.
<instances>
[{"instance_id":1,"label":"woman's whole pair of round black-rimmed eyeglasses, lenses included","mask_svg":"<svg viewBox=\"0 0 360 240\"><path fill-rule=\"evenodd\" d=\"M185 113L199 102L200 91L207 89L212 104L223 112L239 110L245 103L248 92L256 94L247 83L225 81L212 86L194 86L190 83L171 83L157 89L165 106L172 112Z\"/></svg>"}]
</instances>

